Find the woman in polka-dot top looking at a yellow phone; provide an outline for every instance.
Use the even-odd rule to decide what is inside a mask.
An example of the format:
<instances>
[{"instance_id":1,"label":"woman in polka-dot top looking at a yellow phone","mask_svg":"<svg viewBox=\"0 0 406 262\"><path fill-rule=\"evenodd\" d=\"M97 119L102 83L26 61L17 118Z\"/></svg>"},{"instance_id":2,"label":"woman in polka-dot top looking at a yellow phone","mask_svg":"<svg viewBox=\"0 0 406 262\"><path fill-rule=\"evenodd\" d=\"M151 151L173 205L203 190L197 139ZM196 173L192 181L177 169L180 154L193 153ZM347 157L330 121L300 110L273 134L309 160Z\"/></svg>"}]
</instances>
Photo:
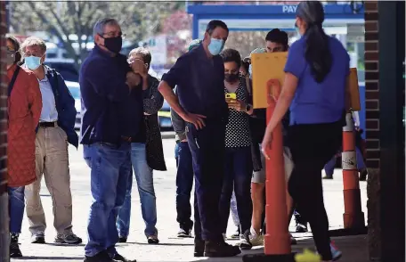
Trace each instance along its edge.
<instances>
[{"instance_id":1,"label":"woman in polka-dot top looking at a yellow phone","mask_svg":"<svg viewBox=\"0 0 406 262\"><path fill-rule=\"evenodd\" d=\"M249 228L252 215L250 186L253 170L249 115L253 109L248 102L246 79L240 75L240 53L226 49L220 55L224 62L225 100L229 107L225 131L225 174L219 205L220 223L225 233L230 216L231 194L234 191L240 219L240 248L249 250L252 247L249 242Z\"/></svg>"}]
</instances>

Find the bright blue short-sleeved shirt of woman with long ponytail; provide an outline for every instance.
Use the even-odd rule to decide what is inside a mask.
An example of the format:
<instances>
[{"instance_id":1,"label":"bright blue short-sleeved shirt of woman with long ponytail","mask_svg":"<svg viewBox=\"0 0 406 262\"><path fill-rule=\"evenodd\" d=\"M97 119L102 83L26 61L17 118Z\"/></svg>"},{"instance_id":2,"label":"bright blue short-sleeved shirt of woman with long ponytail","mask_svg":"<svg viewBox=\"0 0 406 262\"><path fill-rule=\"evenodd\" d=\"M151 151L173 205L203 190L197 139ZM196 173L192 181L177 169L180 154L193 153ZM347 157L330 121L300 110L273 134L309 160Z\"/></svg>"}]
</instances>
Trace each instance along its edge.
<instances>
[{"instance_id":1,"label":"bright blue short-sleeved shirt of woman with long ponytail","mask_svg":"<svg viewBox=\"0 0 406 262\"><path fill-rule=\"evenodd\" d=\"M336 122L345 110L346 78L350 56L335 37L329 37L332 66L329 74L317 83L305 59L305 37L290 46L285 72L298 78L295 97L290 105L290 125Z\"/></svg>"}]
</instances>

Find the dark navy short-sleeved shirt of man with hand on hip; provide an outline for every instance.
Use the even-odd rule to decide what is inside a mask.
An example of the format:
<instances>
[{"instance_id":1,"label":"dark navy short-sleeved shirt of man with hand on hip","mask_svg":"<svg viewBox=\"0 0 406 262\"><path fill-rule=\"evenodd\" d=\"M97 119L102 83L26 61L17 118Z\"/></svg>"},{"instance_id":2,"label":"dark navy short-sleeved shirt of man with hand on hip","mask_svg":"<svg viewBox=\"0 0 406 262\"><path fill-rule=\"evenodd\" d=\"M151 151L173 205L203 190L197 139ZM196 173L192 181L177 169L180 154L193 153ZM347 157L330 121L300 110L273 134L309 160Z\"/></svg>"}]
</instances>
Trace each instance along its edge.
<instances>
[{"instance_id":1,"label":"dark navy short-sleeved shirt of man with hand on hip","mask_svg":"<svg viewBox=\"0 0 406 262\"><path fill-rule=\"evenodd\" d=\"M228 115L224 97L224 64L220 55L208 58L203 45L184 53L162 80L176 87L184 110L201 114L207 120Z\"/></svg>"}]
</instances>

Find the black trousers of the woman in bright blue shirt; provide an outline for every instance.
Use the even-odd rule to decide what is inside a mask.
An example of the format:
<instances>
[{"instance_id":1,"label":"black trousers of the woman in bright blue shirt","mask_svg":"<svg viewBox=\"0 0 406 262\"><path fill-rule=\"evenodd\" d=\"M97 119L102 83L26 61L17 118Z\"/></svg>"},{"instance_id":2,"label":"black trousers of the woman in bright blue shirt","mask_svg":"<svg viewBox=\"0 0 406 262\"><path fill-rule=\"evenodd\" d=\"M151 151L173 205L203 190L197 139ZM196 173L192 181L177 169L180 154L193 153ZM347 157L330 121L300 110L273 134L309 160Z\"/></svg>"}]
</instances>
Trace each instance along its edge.
<instances>
[{"instance_id":1,"label":"black trousers of the woman in bright blue shirt","mask_svg":"<svg viewBox=\"0 0 406 262\"><path fill-rule=\"evenodd\" d=\"M322 260L331 260L329 219L324 209L321 169L342 143L342 122L296 125L288 130L295 168L288 191L296 209L312 227L313 239Z\"/></svg>"}]
</instances>

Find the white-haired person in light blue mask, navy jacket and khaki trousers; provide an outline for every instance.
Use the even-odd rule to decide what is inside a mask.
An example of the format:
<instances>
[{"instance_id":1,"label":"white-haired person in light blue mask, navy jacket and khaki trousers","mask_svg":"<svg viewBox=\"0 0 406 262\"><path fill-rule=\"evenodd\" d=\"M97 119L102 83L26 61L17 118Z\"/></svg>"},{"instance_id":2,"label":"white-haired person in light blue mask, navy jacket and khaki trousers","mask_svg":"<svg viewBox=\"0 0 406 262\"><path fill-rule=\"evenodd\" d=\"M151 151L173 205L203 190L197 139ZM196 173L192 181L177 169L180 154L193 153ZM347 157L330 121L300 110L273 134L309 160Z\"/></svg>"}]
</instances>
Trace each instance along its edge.
<instances>
[{"instance_id":1,"label":"white-haired person in light blue mask, navy jacket and khaki trousers","mask_svg":"<svg viewBox=\"0 0 406 262\"><path fill-rule=\"evenodd\" d=\"M28 37L22 43L21 50L23 67L36 75L43 100L36 137L37 181L29 184L25 192L31 242L45 243L45 213L39 196L41 179L45 176L46 186L53 198L53 225L57 232L55 242L77 244L82 239L72 231L68 153L68 143L75 147L78 145L74 128L77 115L75 99L61 75L43 64L46 45L42 39Z\"/></svg>"}]
</instances>

